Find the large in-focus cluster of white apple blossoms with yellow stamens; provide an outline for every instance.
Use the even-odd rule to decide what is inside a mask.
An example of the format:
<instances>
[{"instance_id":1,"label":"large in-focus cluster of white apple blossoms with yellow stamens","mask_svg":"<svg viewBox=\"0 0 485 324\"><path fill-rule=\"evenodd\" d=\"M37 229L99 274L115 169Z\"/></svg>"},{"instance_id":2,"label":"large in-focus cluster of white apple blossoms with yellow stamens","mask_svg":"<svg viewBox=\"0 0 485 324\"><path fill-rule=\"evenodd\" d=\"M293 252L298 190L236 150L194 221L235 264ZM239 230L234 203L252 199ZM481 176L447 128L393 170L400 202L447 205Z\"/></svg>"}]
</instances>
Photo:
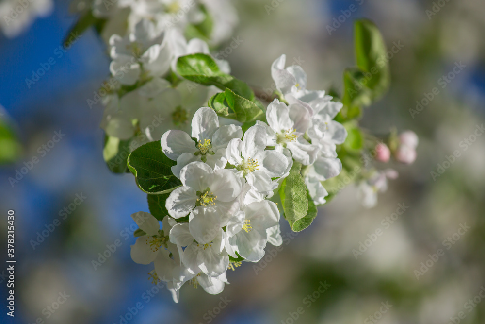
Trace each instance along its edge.
<instances>
[{"instance_id":1,"label":"large in-focus cluster of white apple blossoms with yellow stamens","mask_svg":"<svg viewBox=\"0 0 485 324\"><path fill-rule=\"evenodd\" d=\"M281 245L280 211L269 199L293 163L304 166L316 205L327 195L321 182L341 171L336 145L347 133L333 120L341 103L323 91L306 90L305 72L284 69L284 61L280 57L272 68L282 101L268 105L266 122L258 120L243 132L234 123L221 126L214 109L202 107L194 113L190 135L182 130L162 135L162 152L176 162L171 170L181 186L166 199L162 230L152 215L132 215L145 235L131 256L138 263L154 262L152 277L167 282L176 301L187 281L220 293L227 269L258 262L268 242Z\"/></svg>"}]
</instances>

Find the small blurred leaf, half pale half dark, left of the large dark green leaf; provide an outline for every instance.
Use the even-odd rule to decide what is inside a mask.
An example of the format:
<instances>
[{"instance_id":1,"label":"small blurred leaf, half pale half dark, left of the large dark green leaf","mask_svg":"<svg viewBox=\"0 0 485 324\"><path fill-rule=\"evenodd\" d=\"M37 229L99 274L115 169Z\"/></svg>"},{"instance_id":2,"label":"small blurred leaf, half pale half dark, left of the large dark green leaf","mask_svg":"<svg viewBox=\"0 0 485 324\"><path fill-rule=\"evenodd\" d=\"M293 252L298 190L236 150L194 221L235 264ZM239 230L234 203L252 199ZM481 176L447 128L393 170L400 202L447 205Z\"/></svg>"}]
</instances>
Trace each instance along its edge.
<instances>
[{"instance_id":1,"label":"small blurred leaf, half pale half dark, left of the large dark green leaf","mask_svg":"<svg viewBox=\"0 0 485 324\"><path fill-rule=\"evenodd\" d=\"M130 139L120 140L118 137L104 136L103 158L110 171L114 173L128 171L129 143Z\"/></svg>"}]
</instances>

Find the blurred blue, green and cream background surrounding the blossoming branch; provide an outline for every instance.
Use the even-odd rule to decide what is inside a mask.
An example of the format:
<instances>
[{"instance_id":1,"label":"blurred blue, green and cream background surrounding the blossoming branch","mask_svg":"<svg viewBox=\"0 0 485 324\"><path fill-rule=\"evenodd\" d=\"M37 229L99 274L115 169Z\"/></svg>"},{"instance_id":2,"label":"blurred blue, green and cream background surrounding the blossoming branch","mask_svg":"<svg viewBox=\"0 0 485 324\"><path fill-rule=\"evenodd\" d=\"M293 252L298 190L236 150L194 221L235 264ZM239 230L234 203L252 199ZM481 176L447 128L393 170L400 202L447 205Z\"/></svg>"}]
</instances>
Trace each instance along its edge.
<instances>
[{"instance_id":1,"label":"blurred blue, green and cream background surrounding the blossoming branch","mask_svg":"<svg viewBox=\"0 0 485 324\"><path fill-rule=\"evenodd\" d=\"M343 69L355 64L353 21L374 21L388 50L400 49L388 55L390 91L365 110L362 126L415 131L416 163L393 166L400 177L377 207L364 209L356 188L346 188L305 231L292 234L282 220L283 245L229 271L222 294L185 285L174 304L147 280L150 266L130 258L129 215L148 211L146 195L131 174L107 169L102 106L87 103L109 76L106 48L88 31L60 51L76 17L56 0L25 32L0 35L1 132L20 138L3 139L0 154L21 154L0 168L1 244L13 209L17 260L16 316L2 307L0 323L485 323L485 136L476 136L485 113L483 1L235 4L242 42L226 59L233 74L263 88L272 84L271 63L286 53L307 71L309 89L341 89ZM32 76L39 68L44 75ZM411 114L434 87L439 93ZM111 256L93 265L116 240Z\"/></svg>"}]
</instances>

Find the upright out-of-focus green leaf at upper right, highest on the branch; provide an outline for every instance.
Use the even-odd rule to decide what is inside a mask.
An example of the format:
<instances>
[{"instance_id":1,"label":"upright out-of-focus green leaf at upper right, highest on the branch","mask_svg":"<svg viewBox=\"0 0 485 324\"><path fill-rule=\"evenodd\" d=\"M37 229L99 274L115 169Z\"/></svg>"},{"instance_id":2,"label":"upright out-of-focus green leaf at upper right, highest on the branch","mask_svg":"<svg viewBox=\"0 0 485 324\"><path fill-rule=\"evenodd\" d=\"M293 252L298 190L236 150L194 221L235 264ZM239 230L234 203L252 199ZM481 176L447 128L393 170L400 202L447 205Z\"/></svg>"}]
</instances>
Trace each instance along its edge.
<instances>
[{"instance_id":1,"label":"upright out-of-focus green leaf at upper right, highest on the branch","mask_svg":"<svg viewBox=\"0 0 485 324\"><path fill-rule=\"evenodd\" d=\"M386 93L390 82L386 44L377 26L367 19L356 21L355 35L357 66L365 72L375 101Z\"/></svg>"}]
</instances>

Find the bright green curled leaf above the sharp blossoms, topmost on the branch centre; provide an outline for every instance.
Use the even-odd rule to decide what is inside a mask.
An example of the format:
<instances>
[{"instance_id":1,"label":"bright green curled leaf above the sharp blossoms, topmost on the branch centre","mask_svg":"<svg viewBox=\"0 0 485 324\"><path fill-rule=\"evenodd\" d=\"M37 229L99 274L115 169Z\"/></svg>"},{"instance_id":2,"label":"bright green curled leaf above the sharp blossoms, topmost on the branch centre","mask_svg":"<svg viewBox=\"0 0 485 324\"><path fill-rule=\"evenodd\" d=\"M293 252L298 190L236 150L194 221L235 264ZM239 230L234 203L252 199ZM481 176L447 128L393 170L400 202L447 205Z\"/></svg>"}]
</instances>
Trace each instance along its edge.
<instances>
[{"instance_id":1,"label":"bright green curled leaf above the sharp blossoms, topmost on the branch centre","mask_svg":"<svg viewBox=\"0 0 485 324\"><path fill-rule=\"evenodd\" d=\"M179 57L177 72L189 81L201 85L215 85L223 91L229 88L249 101L255 99L249 85L222 72L210 55L197 53Z\"/></svg>"}]
</instances>

